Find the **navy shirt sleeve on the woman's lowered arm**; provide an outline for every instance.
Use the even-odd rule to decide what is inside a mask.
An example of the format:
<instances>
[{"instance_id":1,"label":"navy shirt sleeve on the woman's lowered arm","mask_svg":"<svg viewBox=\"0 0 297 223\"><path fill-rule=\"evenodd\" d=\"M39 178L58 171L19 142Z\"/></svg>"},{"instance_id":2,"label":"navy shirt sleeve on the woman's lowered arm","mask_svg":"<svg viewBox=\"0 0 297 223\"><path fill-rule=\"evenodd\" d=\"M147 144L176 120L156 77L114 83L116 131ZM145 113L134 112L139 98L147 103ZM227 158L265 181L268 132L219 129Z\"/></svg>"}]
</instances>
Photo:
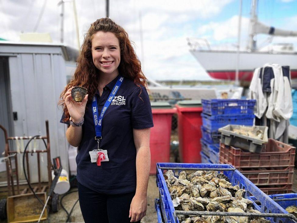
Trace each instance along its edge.
<instances>
[{"instance_id":1,"label":"navy shirt sleeve on the woman's lowered arm","mask_svg":"<svg viewBox=\"0 0 297 223\"><path fill-rule=\"evenodd\" d=\"M146 129L154 126L149 94L143 86L141 89L137 87L131 98L131 122L133 129Z\"/></svg>"}]
</instances>

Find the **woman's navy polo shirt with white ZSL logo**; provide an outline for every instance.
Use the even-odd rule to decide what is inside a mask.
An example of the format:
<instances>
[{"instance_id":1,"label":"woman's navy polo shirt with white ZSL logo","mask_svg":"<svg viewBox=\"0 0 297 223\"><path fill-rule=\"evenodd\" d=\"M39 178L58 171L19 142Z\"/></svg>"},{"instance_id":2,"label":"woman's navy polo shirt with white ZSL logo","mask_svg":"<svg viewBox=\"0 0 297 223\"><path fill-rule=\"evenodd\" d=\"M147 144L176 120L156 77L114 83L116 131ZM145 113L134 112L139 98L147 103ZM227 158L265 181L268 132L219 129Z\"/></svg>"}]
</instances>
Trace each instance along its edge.
<instances>
[{"instance_id":1,"label":"woman's navy polo shirt with white ZSL logo","mask_svg":"<svg viewBox=\"0 0 297 223\"><path fill-rule=\"evenodd\" d=\"M96 92L98 111L103 108L118 76L108 83L100 97ZM141 91L141 93L140 93ZM140 94L140 95L139 95ZM136 148L133 129L153 127L152 109L145 87L136 86L132 80L124 78L102 121L100 149L107 150L109 161L101 166L91 163L89 151L97 149L92 101L86 104L82 141L76 156L79 183L99 193L120 194L136 190ZM64 115L62 115L61 123Z\"/></svg>"}]
</instances>

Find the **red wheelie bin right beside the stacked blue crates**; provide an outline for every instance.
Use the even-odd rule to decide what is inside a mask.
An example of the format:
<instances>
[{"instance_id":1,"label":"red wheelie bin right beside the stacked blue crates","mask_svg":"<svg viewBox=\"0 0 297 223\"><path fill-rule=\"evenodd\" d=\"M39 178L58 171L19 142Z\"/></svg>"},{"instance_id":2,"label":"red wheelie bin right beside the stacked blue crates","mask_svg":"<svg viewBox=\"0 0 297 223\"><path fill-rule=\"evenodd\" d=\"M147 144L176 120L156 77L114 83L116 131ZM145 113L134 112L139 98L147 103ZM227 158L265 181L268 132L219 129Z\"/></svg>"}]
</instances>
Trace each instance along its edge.
<instances>
[{"instance_id":1,"label":"red wheelie bin right beside the stacked blue crates","mask_svg":"<svg viewBox=\"0 0 297 223\"><path fill-rule=\"evenodd\" d=\"M201 163L201 101L180 101L176 108L180 162Z\"/></svg>"}]
</instances>

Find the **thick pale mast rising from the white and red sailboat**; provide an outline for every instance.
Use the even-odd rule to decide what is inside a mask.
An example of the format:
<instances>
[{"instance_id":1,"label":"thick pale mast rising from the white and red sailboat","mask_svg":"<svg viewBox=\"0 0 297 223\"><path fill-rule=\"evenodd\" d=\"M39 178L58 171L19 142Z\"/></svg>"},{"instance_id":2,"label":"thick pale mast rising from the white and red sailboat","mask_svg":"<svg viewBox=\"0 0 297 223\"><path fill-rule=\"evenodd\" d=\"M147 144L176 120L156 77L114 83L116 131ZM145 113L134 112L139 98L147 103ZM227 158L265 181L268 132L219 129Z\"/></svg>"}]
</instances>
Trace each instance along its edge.
<instances>
[{"instance_id":1,"label":"thick pale mast rising from the white and red sailboat","mask_svg":"<svg viewBox=\"0 0 297 223\"><path fill-rule=\"evenodd\" d=\"M258 17L257 17L257 4L258 1L257 0L252 0L252 7L251 7L251 17L250 17L250 38L249 38L249 45L248 45L248 49L250 51L255 51L257 48L257 39L256 39L256 24L258 21Z\"/></svg>"}]
</instances>

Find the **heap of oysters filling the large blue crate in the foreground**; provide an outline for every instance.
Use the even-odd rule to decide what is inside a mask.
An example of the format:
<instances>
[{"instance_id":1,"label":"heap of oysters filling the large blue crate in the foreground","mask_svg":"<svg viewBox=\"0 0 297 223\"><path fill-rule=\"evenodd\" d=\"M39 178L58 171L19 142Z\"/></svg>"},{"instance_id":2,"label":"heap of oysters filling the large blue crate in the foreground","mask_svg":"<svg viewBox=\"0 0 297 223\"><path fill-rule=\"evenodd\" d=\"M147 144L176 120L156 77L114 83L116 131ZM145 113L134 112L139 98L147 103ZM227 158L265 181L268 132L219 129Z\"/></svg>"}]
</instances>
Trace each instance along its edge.
<instances>
[{"instance_id":1,"label":"heap of oysters filling the large blue crate in the foreground","mask_svg":"<svg viewBox=\"0 0 297 223\"><path fill-rule=\"evenodd\" d=\"M163 175L175 210L260 213L253 210L251 200L244 198L244 189L232 186L228 177L217 171L187 170L180 172L177 178L172 170L168 170ZM262 217L177 216L181 223L270 222Z\"/></svg>"}]
</instances>

